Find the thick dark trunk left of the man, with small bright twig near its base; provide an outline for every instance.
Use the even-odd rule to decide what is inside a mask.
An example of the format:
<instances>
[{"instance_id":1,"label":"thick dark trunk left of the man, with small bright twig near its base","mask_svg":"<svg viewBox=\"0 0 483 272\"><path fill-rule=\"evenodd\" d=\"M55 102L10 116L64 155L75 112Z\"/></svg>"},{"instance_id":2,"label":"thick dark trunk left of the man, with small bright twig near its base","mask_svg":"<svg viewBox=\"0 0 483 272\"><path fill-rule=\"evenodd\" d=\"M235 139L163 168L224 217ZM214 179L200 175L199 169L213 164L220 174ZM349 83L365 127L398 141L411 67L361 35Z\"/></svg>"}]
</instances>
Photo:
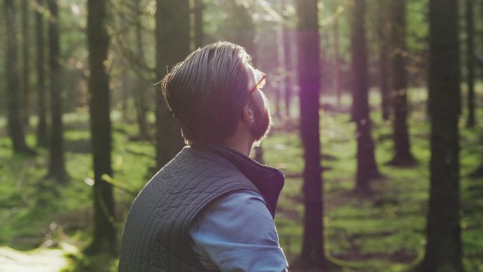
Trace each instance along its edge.
<instances>
[{"instance_id":1,"label":"thick dark trunk left of the man, with small bright twig near its base","mask_svg":"<svg viewBox=\"0 0 483 272\"><path fill-rule=\"evenodd\" d=\"M109 46L106 13L107 1L88 0L89 113L95 181L94 237L88 248L88 254L116 253L114 197L112 184L109 184L105 177L105 175L112 177L109 76L105 67Z\"/></svg>"}]
</instances>

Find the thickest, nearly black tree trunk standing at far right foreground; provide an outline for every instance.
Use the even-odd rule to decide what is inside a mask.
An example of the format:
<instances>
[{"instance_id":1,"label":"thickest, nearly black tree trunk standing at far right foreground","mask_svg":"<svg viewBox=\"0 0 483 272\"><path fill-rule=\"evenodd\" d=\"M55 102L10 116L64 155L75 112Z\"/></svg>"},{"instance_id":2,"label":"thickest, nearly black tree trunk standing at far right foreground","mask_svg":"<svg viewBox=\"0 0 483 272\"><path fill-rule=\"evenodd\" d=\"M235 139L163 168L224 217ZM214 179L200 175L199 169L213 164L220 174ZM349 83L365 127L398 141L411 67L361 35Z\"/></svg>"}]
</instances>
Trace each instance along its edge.
<instances>
[{"instance_id":1,"label":"thickest, nearly black tree trunk standing at far right foreground","mask_svg":"<svg viewBox=\"0 0 483 272\"><path fill-rule=\"evenodd\" d=\"M460 229L458 1L429 1L431 182L422 271L463 271Z\"/></svg>"}]
</instances>

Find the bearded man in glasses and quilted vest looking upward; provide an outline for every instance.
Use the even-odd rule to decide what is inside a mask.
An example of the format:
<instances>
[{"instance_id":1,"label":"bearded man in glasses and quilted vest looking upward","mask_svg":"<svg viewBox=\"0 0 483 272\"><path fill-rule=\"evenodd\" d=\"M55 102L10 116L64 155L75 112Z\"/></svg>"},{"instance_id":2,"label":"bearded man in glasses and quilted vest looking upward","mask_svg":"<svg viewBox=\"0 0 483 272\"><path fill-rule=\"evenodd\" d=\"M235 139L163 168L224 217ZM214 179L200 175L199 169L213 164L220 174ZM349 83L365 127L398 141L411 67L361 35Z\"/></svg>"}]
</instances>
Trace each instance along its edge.
<instances>
[{"instance_id":1,"label":"bearded man in glasses and quilted vest looking upward","mask_svg":"<svg viewBox=\"0 0 483 272\"><path fill-rule=\"evenodd\" d=\"M216 42L161 81L189 146L133 202L119 271L287 271L273 222L284 177L249 158L271 125L266 76L249 62Z\"/></svg>"}]
</instances>

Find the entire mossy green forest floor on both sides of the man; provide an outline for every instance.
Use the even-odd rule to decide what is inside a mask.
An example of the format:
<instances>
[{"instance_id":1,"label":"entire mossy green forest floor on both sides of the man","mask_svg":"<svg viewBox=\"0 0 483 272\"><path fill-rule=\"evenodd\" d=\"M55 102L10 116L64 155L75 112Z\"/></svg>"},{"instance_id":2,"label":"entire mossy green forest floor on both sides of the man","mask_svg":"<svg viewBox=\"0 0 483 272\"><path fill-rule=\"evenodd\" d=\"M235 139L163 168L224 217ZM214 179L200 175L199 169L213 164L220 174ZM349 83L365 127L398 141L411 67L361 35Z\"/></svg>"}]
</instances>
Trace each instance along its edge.
<instances>
[{"instance_id":1,"label":"entire mossy green forest floor on both sides of the man","mask_svg":"<svg viewBox=\"0 0 483 272\"><path fill-rule=\"evenodd\" d=\"M345 97L344 105L349 105ZM371 94L376 160L385 176L371 184L370 196L354 194L356 167L354 124L347 106L321 112L326 256L343 272L407 271L424 254L424 227L429 189L429 119L424 113L424 91L411 93L410 135L418 164L409 168L386 165L393 155L392 126L382 122L378 97ZM480 101L480 105L483 103ZM132 115L134 116L134 115ZM462 116L465 116L464 114ZM152 175L155 149L147 141L132 141L137 127L119 112L114 120L112 162L117 201L119 238L124 218L136 191ZM482 122L483 110L477 119ZM150 116L153 121L153 117ZM292 119L275 118L275 127L263 142L263 158L286 175L275 218L280 244L292 263L302 248L302 147ZM13 155L0 118L0 271L117 271L117 260L83 256L90 242L93 177L88 112L79 109L64 115L66 167L69 182L46 179L48 152ZM32 120L35 124L35 119ZM483 271L483 179L468 175L482 160L481 129L464 129L460 141L461 227L467 272ZM35 146L35 131L27 141ZM294 271L293 269L291 271Z\"/></svg>"}]
</instances>

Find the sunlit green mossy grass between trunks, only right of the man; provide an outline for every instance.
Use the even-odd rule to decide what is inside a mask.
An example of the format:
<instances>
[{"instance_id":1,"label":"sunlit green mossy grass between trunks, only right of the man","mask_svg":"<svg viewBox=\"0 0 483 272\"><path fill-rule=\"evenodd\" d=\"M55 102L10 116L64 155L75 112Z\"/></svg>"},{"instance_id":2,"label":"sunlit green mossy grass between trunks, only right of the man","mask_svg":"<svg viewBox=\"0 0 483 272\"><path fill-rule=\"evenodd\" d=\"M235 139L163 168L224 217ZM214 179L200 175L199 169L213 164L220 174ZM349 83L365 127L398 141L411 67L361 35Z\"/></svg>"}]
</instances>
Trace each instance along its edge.
<instances>
[{"instance_id":1,"label":"sunlit green mossy grass between trunks, only right of the man","mask_svg":"<svg viewBox=\"0 0 483 272\"><path fill-rule=\"evenodd\" d=\"M410 114L408 123L412 153L418 165L412 168L385 165L393 156L392 126L381 121L379 112L373 112L376 160L386 177L372 183L376 194L367 199L352 194L357 147L354 124L347 122L348 114L321 114L321 149L325 155L330 155L330 160L322 162L327 167L323 172L326 254L342 264L343 271L405 271L424 254L431 156L429 117L424 112L425 93L422 90L412 92L410 98L415 111ZM377 107L378 96L372 94L371 98L371 105ZM483 118L482 113L478 112L479 120ZM482 160L481 131L464 129L464 118L461 128L464 263L467 271L483 271L483 181L467 178ZM266 162L282 167L291 175L302 173L302 150L297 137L296 131L269 137L263 143ZM292 260L300 254L302 244L301 187L301 179L287 179L276 218L280 244ZM475 188L479 190L477 201L470 194L470 189Z\"/></svg>"}]
</instances>

